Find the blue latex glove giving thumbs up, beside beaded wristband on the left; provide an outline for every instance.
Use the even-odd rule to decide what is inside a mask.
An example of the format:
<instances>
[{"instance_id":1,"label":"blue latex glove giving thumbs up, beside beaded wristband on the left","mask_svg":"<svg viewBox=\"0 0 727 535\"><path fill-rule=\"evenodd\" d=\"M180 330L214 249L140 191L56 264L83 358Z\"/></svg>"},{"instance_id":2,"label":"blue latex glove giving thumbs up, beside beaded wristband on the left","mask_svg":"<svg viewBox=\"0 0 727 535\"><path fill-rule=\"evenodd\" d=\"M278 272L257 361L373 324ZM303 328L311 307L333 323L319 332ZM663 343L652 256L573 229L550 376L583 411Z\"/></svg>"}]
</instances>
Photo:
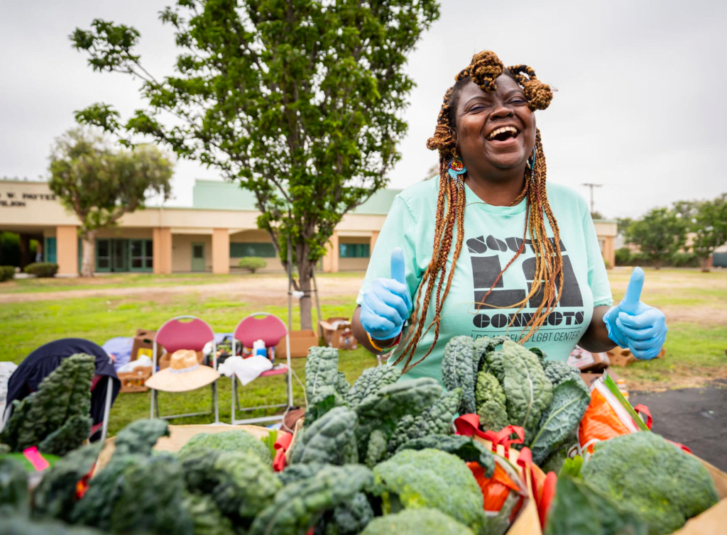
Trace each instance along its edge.
<instances>
[{"instance_id":1,"label":"blue latex glove giving thumbs up, beside beaded wristband on the left","mask_svg":"<svg viewBox=\"0 0 727 535\"><path fill-rule=\"evenodd\" d=\"M398 336L411 313L411 295L404 278L401 247L391 252L391 278L377 278L361 302L361 325L371 338L387 340Z\"/></svg>"}]
</instances>

